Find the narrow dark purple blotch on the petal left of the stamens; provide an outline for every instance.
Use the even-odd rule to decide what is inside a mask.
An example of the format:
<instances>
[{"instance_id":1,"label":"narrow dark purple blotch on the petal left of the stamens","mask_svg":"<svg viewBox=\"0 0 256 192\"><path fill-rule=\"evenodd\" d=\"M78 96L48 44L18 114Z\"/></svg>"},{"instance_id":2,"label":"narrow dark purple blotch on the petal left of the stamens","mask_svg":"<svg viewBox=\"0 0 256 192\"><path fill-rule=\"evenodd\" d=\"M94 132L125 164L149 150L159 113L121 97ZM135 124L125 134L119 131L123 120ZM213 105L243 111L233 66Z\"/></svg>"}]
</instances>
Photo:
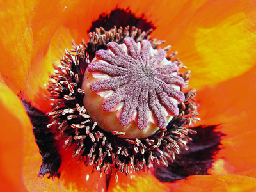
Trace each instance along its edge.
<instances>
[{"instance_id":1,"label":"narrow dark purple blotch on the petal left of the stamens","mask_svg":"<svg viewBox=\"0 0 256 192\"><path fill-rule=\"evenodd\" d=\"M49 116L31 106L26 100L22 99L22 102L33 125L35 141L42 156L39 176L50 174L49 177L60 177L58 170L61 165L61 156L55 145L54 134L46 127L49 124Z\"/></svg>"}]
</instances>

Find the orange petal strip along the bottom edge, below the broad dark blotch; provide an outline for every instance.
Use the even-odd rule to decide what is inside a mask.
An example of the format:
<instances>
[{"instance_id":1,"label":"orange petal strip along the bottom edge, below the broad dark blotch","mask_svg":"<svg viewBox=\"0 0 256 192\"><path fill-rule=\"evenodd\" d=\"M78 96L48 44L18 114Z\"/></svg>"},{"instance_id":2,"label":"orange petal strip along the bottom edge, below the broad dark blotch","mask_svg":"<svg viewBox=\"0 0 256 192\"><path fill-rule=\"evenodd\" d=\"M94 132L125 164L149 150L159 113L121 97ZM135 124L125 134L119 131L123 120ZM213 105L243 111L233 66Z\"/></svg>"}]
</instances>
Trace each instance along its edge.
<instances>
[{"instance_id":1,"label":"orange petal strip along the bottom edge, below the broad dark blotch","mask_svg":"<svg viewBox=\"0 0 256 192\"><path fill-rule=\"evenodd\" d=\"M175 183L162 183L144 172L111 177L108 191L253 191L256 179L241 175L193 175Z\"/></svg>"}]
</instances>

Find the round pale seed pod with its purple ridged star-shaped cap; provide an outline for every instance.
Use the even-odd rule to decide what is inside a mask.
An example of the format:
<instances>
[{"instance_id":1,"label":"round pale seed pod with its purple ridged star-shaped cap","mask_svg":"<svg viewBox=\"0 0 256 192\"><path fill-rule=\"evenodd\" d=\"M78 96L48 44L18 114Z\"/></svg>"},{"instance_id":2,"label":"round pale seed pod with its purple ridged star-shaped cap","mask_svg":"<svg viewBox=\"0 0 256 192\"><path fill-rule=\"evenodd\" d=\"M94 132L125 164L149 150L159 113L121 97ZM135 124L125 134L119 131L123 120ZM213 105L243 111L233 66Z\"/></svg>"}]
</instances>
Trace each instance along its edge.
<instances>
[{"instance_id":1,"label":"round pale seed pod with its purple ridged star-shaped cap","mask_svg":"<svg viewBox=\"0 0 256 192\"><path fill-rule=\"evenodd\" d=\"M136 43L127 37L124 44L107 47L96 52L84 74L83 102L92 120L124 138L146 138L164 129L185 98L177 64L148 40Z\"/></svg>"}]
</instances>

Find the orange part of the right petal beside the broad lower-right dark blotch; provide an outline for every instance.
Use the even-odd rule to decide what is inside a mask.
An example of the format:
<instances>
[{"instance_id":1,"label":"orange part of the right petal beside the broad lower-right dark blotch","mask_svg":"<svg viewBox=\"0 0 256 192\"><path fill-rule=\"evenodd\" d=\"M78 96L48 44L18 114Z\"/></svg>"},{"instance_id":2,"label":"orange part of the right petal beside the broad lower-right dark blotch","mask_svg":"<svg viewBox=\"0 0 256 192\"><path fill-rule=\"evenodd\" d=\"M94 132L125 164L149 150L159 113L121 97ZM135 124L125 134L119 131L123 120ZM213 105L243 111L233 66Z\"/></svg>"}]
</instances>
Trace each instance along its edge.
<instances>
[{"instance_id":1,"label":"orange part of the right petal beside the broad lower-right dark blotch","mask_svg":"<svg viewBox=\"0 0 256 192\"><path fill-rule=\"evenodd\" d=\"M200 124L221 124L220 131L226 134L222 149L216 154L222 160L209 173L219 174L218 169L223 168L222 173L256 177L256 152L252 149L256 145L255 72L256 66L242 76L198 92Z\"/></svg>"}]
</instances>

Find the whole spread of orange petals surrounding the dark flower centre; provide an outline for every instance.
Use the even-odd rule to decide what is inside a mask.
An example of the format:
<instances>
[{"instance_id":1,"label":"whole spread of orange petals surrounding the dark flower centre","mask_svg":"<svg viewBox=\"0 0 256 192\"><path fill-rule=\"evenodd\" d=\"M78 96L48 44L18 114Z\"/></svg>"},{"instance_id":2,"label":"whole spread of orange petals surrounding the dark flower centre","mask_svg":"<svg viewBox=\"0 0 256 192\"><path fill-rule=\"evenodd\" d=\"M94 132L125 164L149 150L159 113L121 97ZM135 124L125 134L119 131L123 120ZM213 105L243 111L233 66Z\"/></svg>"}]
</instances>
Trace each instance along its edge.
<instances>
[{"instance_id":1,"label":"whole spread of orange petals surrounding the dark flower centre","mask_svg":"<svg viewBox=\"0 0 256 192\"><path fill-rule=\"evenodd\" d=\"M254 1L6 1L1 4L4 8L0 16L3 24L0 29L1 191L255 190ZM116 9L152 24L155 27L150 34L152 38L171 44L191 70L189 86L197 90L202 119L194 126L212 126L214 132L222 133L221 145L212 156L214 161L206 169L208 175L195 173L175 182L168 182L171 174L168 170L160 170L163 177L157 172L136 172L129 176L118 173L118 180L113 175L99 177L99 173L90 173L90 166L71 157L72 148L58 148L62 157L57 170L60 178L38 177L42 159L28 109L26 112L20 99L36 109L33 115L51 111L51 102L44 99L49 96L45 85L65 48L70 47L72 39L81 42L82 38L88 38L93 22L97 19L104 22ZM207 140L209 135L204 138ZM54 150L54 145L50 150Z\"/></svg>"}]
</instances>

